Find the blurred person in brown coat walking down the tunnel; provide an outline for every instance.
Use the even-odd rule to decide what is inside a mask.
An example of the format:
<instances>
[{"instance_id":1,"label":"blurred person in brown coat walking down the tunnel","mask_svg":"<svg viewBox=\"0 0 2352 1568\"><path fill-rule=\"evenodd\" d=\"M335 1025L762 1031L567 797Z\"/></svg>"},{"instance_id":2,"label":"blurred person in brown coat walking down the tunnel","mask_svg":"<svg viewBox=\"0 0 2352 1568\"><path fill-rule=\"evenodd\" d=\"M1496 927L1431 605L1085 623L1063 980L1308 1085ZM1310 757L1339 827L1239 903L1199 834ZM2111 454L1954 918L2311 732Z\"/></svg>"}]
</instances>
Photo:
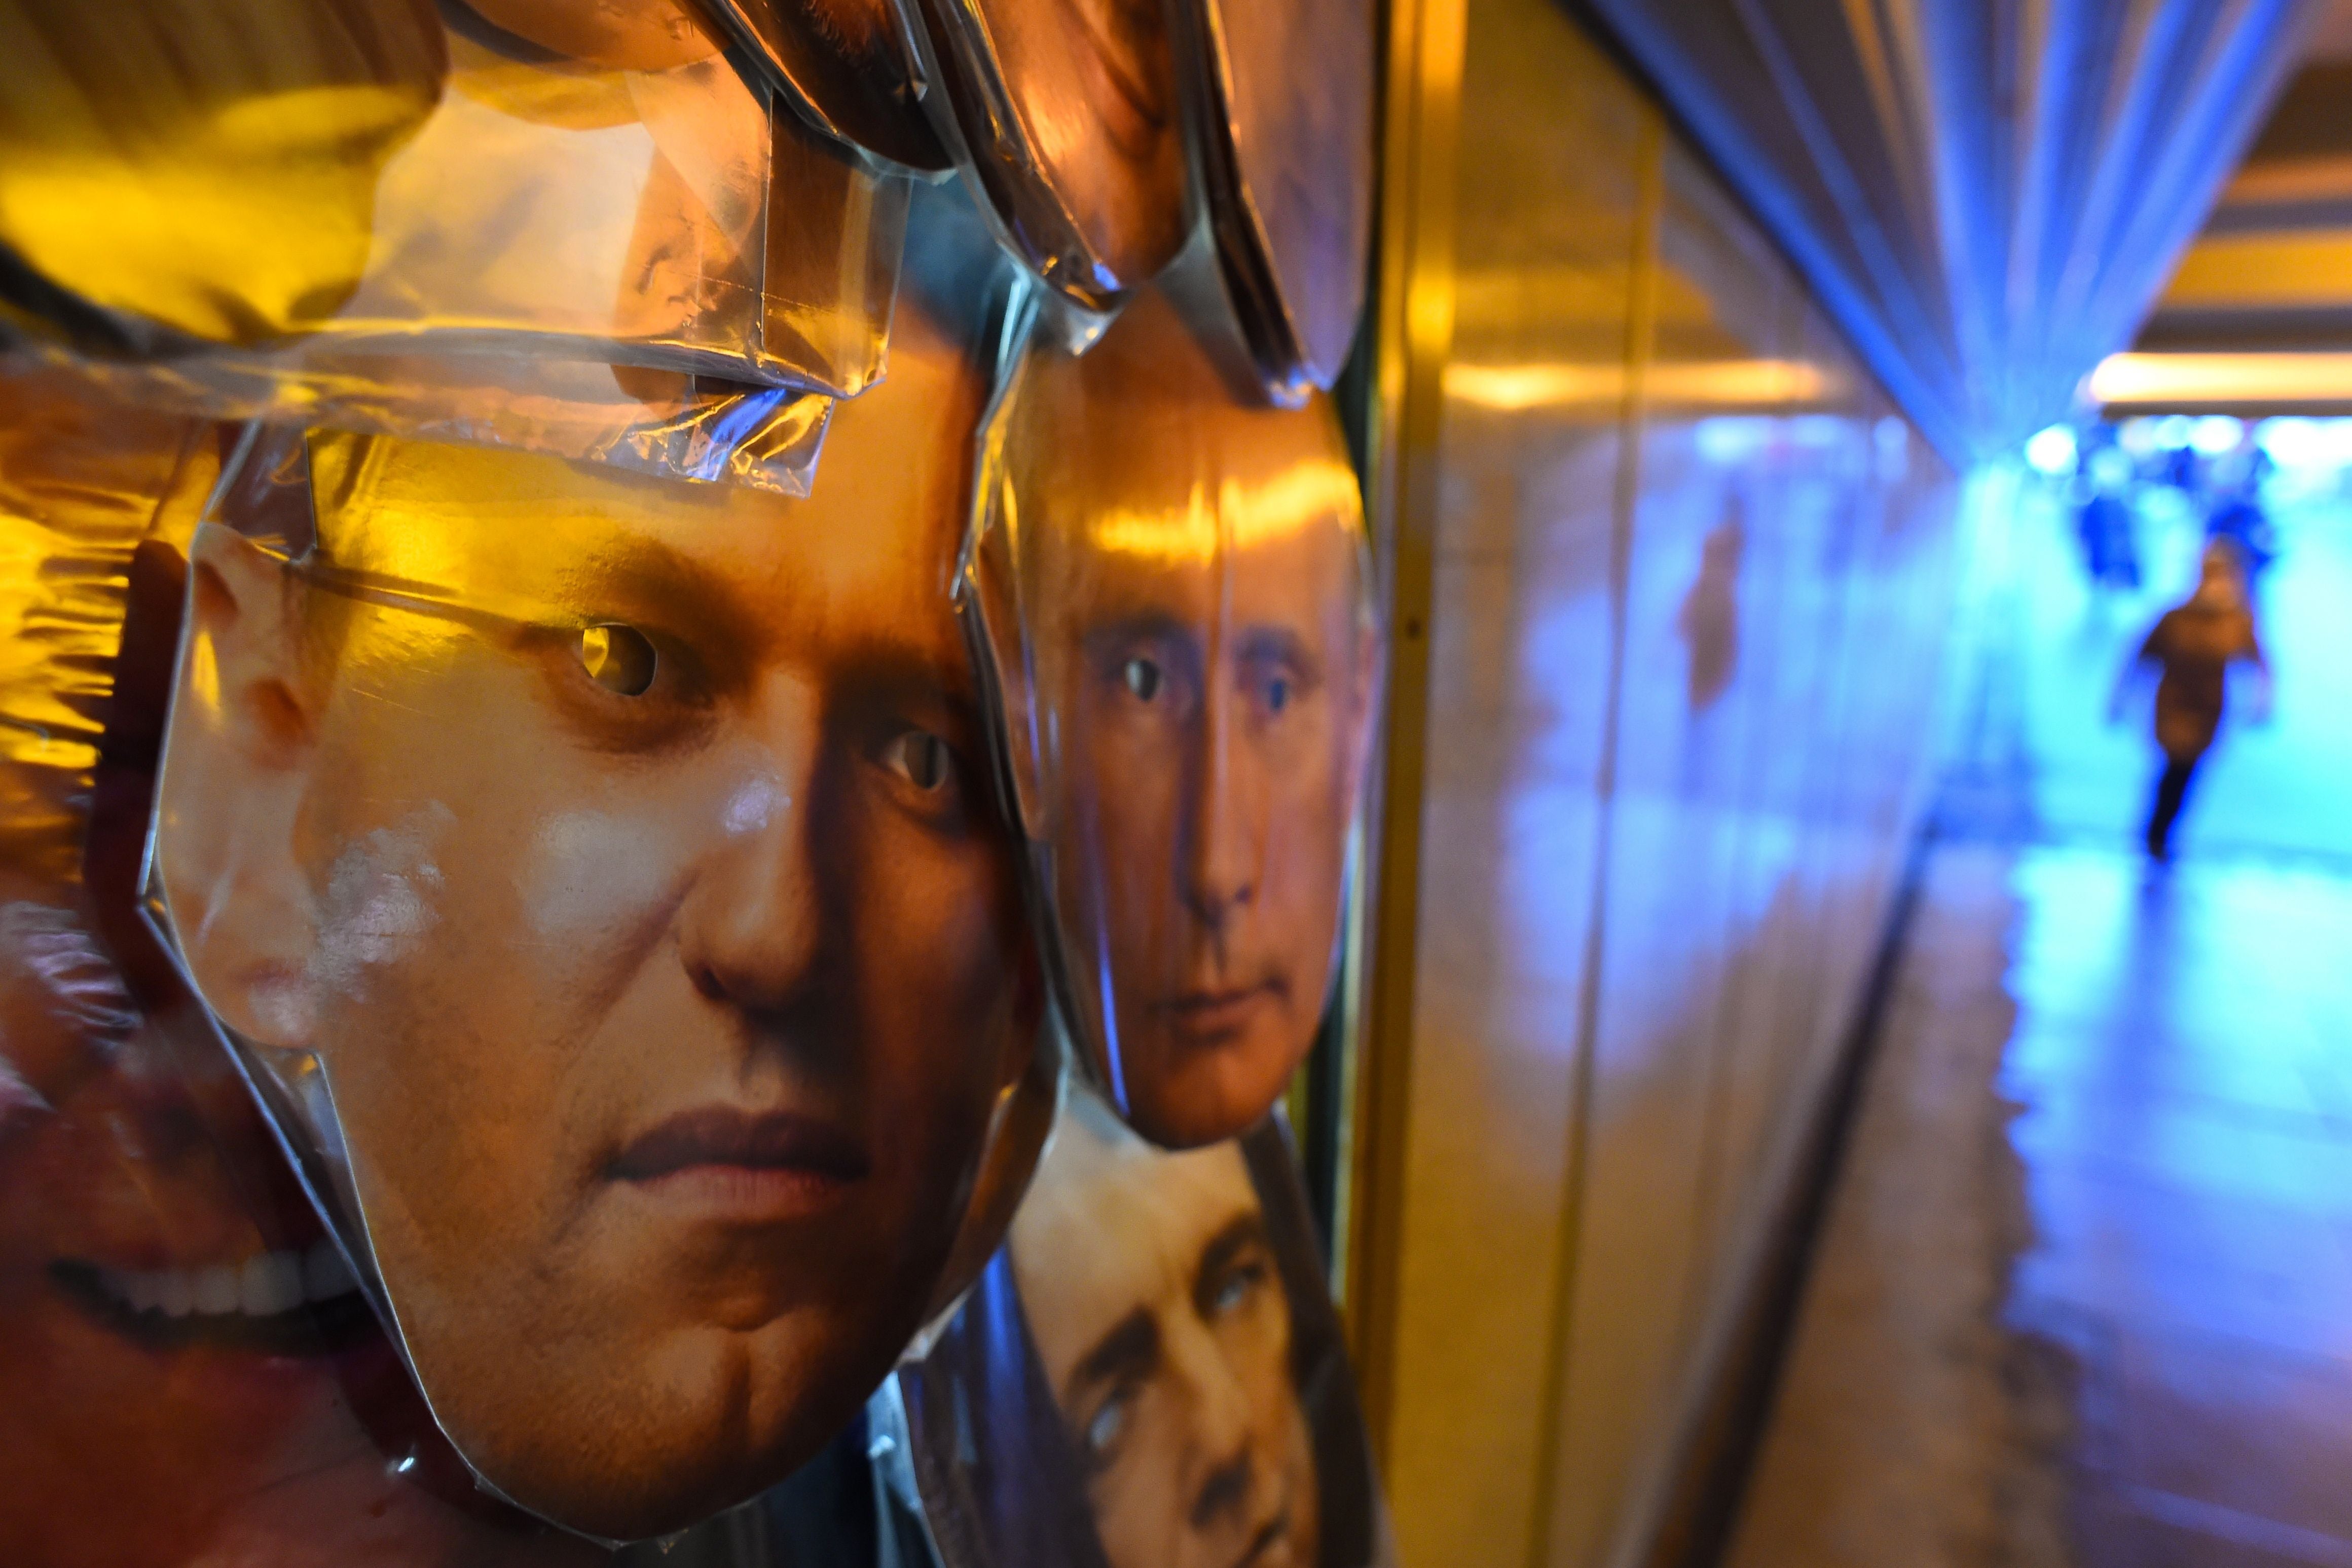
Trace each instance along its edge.
<instances>
[{"instance_id":1,"label":"blurred person in brown coat walking down the tunnel","mask_svg":"<svg viewBox=\"0 0 2352 1568\"><path fill-rule=\"evenodd\" d=\"M2157 679L2157 748L2164 752L2164 771L2157 776L2154 799L2147 806L2147 853L2157 860L2171 860L2173 823L2187 802L2197 764L2220 731L2230 696L2230 665L2234 663L2253 665L2260 679L2256 722L2270 717L2270 665L2253 630L2246 571L2237 548L2218 541L2206 545L2197 592L2164 611L2114 682L2110 717L2122 719L2133 679L2150 668L2161 672Z\"/></svg>"}]
</instances>

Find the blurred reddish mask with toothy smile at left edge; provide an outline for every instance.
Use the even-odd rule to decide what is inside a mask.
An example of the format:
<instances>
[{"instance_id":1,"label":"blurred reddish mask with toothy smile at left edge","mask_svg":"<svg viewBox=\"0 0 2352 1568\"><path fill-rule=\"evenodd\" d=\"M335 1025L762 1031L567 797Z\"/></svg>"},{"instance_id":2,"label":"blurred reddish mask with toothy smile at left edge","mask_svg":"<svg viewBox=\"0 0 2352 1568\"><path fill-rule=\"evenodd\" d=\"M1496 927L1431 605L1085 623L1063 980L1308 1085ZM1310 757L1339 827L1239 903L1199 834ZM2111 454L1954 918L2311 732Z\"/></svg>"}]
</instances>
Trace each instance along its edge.
<instances>
[{"instance_id":1,"label":"blurred reddish mask with toothy smile at left edge","mask_svg":"<svg viewBox=\"0 0 2352 1568\"><path fill-rule=\"evenodd\" d=\"M214 430L0 376L0 1542L593 1568L487 1507L139 917Z\"/></svg>"}]
</instances>

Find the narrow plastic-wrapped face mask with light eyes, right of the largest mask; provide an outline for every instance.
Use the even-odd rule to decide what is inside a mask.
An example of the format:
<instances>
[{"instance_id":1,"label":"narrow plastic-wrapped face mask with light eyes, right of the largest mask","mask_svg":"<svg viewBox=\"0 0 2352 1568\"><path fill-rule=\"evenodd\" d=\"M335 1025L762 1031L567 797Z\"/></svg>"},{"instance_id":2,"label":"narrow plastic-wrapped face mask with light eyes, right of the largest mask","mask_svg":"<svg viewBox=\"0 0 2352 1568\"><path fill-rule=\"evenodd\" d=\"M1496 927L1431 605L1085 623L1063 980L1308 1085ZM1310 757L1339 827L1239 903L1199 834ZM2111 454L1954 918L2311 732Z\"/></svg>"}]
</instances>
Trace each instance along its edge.
<instances>
[{"instance_id":1,"label":"narrow plastic-wrapped face mask with light eyes, right of the largest mask","mask_svg":"<svg viewBox=\"0 0 2352 1568\"><path fill-rule=\"evenodd\" d=\"M1000 393L974 642L1084 1058L1167 1145L1256 1124L1315 1041L1378 696L1327 400L1232 397L1157 292Z\"/></svg>"}]
</instances>

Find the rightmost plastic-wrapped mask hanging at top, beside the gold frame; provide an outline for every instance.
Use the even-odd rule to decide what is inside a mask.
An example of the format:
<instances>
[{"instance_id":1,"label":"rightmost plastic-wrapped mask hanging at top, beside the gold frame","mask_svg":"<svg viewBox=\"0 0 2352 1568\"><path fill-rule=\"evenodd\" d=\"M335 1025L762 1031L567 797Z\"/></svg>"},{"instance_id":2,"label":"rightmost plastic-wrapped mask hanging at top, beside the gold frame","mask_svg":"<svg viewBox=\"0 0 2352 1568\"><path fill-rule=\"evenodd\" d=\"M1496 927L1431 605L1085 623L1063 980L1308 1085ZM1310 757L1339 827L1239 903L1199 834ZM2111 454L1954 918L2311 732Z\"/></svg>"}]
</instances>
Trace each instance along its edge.
<instances>
[{"instance_id":1,"label":"rightmost plastic-wrapped mask hanging at top, beside the gold frame","mask_svg":"<svg viewBox=\"0 0 2352 1568\"><path fill-rule=\"evenodd\" d=\"M1268 390L1298 402L1338 378L1364 310L1371 5L1174 0L1174 16L1225 294Z\"/></svg>"}]
</instances>

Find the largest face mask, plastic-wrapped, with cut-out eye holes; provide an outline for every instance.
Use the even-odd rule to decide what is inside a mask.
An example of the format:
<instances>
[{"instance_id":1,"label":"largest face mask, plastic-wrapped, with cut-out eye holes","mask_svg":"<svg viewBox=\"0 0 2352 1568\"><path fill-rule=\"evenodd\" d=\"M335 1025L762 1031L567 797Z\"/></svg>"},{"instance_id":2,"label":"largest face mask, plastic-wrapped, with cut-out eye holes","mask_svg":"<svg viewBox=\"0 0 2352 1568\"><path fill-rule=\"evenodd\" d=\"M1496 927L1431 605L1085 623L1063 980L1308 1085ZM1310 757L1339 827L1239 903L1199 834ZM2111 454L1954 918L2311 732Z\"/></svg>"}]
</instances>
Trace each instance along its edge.
<instances>
[{"instance_id":1,"label":"largest face mask, plastic-wrapped, with cut-out eye holes","mask_svg":"<svg viewBox=\"0 0 2352 1568\"><path fill-rule=\"evenodd\" d=\"M604 1540L814 1453L1056 1091L981 381L898 339L807 503L261 428L191 550L151 905L454 1448Z\"/></svg>"}]
</instances>

